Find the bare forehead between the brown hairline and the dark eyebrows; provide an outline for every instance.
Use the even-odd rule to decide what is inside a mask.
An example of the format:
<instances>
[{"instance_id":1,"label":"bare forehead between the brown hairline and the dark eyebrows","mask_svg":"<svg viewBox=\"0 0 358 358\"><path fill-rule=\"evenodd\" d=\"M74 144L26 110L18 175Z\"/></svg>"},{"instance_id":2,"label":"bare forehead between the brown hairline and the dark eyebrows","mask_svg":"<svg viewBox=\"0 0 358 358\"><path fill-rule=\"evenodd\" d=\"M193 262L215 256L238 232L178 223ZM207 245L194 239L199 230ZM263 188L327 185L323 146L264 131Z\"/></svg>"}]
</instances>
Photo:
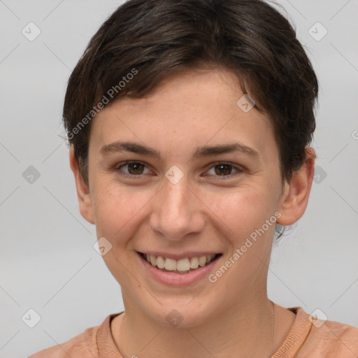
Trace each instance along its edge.
<instances>
[{"instance_id":1,"label":"bare forehead between the brown hairline and the dark eyebrows","mask_svg":"<svg viewBox=\"0 0 358 358\"><path fill-rule=\"evenodd\" d=\"M252 103L242 106L246 98L232 71L187 71L167 78L149 96L120 99L101 110L90 147L127 140L180 156L198 145L239 141L264 152L275 144L271 122L255 106L247 110Z\"/></svg>"}]
</instances>

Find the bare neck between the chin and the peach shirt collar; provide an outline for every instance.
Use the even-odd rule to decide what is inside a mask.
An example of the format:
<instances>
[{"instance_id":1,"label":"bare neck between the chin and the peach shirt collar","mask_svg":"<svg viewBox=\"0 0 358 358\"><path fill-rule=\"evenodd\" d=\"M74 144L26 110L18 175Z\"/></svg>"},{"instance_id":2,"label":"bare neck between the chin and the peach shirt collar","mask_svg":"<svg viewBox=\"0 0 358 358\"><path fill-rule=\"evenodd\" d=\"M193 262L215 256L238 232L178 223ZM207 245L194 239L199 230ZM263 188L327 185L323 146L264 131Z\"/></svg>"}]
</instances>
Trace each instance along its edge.
<instances>
[{"instance_id":1,"label":"bare neck between the chin and the peach shirt collar","mask_svg":"<svg viewBox=\"0 0 358 358\"><path fill-rule=\"evenodd\" d=\"M164 326L133 303L124 306L125 313L113 321L112 328L113 339L124 358L271 357L295 317L267 297L255 302L240 300L238 305L195 327Z\"/></svg>"}]
</instances>

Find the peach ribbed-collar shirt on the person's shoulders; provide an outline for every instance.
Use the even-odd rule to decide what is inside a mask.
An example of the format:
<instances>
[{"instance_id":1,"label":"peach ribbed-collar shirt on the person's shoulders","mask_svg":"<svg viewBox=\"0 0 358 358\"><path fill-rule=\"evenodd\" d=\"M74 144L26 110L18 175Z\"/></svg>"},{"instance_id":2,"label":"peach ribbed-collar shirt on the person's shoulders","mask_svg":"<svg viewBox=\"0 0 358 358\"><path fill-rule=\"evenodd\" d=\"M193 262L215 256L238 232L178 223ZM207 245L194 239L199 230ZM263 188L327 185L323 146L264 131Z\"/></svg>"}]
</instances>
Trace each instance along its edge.
<instances>
[{"instance_id":1,"label":"peach ribbed-collar shirt on the person's shoulders","mask_svg":"<svg viewBox=\"0 0 358 358\"><path fill-rule=\"evenodd\" d=\"M310 322L301 307L287 308L296 320L271 358L357 358L358 328L326 321ZM86 329L60 346L41 350L29 358L122 358L110 332L110 322L120 315L108 315L103 323ZM318 324L317 324L318 322Z\"/></svg>"}]
</instances>

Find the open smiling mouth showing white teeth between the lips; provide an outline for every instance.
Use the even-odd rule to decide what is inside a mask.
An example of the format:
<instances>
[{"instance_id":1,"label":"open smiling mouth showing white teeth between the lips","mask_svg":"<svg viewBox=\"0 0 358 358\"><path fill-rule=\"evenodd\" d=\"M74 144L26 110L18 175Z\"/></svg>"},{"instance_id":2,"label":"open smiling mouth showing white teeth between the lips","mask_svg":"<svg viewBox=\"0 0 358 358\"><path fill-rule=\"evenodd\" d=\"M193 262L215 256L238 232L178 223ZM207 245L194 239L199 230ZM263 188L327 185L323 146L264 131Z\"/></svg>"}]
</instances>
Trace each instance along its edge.
<instances>
[{"instance_id":1,"label":"open smiling mouth showing white teeth between the lips","mask_svg":"<svg viewBox=\"0 0 358 358\"><path fill-rule=\"evenodd\" d=\"M168 257L148 255L143 252L138 252L138 254L160 271L171 273L189 273L195 271L197 268L207 266L210 262L213 262L222 256L222 254L215 254L208 256L186 257L176 260Z\"/></svg>"}]
</instances>

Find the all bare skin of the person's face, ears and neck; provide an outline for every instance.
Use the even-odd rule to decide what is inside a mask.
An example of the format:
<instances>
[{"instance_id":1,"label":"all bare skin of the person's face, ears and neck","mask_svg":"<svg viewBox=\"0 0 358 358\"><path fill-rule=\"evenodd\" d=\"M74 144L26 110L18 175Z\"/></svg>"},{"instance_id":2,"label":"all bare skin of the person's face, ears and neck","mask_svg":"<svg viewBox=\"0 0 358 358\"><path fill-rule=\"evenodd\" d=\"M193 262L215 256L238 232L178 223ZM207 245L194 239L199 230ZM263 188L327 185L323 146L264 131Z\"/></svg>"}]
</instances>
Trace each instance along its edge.
<instances>
[{"instance_id":1,"label":"all bare skin of the person's face, ears and neck","mask_svg":"<svg viewBox=\"0 0 358 358\"><path fill-rule=\"evenodd\" d=\"M300 171L282 182L271 122L255 107L244 113L236 105L241 96L229 70L180 73L150 96L121 99L96 115L88 186L70 150L80 213L96 224L98 238L113 245L103 259L122 288L125 316L117 316L111 330L124 357L271 357L294 323L294 313L273 305L266 293L275 225L215 283L204 278L168 287L137 264L136 251L207 250L222 253L215 272L275 212L282 225L303 215L315 153L307 148ZM101 155L104 145L116 141L145 144L160 158ZM199 146L233 142L257 156L229 152L192 159ZM145 166L119 167L129 160ZM224 167L224 176L217 162L232 165ZM184 174L176 184L164 176L173 165ZM174 309L182 316L177 327L166 321Z\"/></svg>"}]
</instances>

